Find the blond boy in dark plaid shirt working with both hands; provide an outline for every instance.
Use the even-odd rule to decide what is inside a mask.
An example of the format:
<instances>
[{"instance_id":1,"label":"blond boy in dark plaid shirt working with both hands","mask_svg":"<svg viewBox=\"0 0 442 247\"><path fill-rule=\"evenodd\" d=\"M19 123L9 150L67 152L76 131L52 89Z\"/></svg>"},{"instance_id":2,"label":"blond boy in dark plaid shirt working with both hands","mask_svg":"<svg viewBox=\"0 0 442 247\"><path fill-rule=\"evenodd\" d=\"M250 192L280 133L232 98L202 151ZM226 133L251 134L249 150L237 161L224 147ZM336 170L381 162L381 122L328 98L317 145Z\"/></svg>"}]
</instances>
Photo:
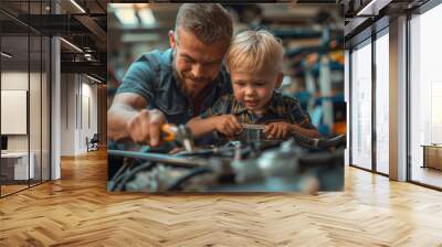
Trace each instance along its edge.
<instances>
[{"instance_id":1,"label":"blond boy in dark plaid shirt working with both hands","mask_svg":"<svg viewBox=\"0 0 442 247\"><path fill-rule=\"evenodd\" d=\"M218 131L231 138L242 131L242 124L260 124L265 125L269 139L286 139L293 132L318 137L299 101L275 90L283 79L283 53L278 40L267 31L238 34L225 55L233 95L220 97L188 122L193 136Z\"/></svg>"}]
</instances>

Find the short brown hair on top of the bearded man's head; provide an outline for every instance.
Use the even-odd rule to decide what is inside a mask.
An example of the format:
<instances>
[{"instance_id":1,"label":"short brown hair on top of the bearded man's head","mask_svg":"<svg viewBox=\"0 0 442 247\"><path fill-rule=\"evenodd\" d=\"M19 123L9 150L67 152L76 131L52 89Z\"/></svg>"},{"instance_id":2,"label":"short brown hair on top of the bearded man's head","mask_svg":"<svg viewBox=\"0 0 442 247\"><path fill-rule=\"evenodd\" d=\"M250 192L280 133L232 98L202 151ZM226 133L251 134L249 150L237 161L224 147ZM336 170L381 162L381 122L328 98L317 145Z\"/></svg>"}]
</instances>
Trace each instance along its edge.
<instances>
[{"instance_id":1,"label":"short brown hair on top of the bearded man's head","mask_svg":"<svg viewBox=\"0 0 442 247\"><path fill-rule=\"evenodd\" d=\"M179 29L192 32L201 42L230 43L233 35L232 18L219 3L185 3L180 7L175 23Z\"/></svg>"}]
</instances>

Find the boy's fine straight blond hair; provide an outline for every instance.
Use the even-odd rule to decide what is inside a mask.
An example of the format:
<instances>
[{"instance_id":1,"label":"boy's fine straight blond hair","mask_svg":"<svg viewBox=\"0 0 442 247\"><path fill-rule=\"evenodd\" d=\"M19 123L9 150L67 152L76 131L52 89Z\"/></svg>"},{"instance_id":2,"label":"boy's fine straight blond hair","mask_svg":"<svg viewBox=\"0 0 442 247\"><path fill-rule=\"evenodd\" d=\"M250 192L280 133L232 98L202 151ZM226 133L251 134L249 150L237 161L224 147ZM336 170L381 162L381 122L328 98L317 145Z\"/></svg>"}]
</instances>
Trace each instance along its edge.
<instances>
[{"instance_id":1,"label":"boy's fine straight blond hair","mask_svg":"<svg viewBox=\"0 0 442 247\"><path fill-rule=\"evenodd\" d=\"M280 73L284 49L281 41L265 30L244 31L233 37L225 55L229 72L246 71Z\"/></svg>"}]
</instances>

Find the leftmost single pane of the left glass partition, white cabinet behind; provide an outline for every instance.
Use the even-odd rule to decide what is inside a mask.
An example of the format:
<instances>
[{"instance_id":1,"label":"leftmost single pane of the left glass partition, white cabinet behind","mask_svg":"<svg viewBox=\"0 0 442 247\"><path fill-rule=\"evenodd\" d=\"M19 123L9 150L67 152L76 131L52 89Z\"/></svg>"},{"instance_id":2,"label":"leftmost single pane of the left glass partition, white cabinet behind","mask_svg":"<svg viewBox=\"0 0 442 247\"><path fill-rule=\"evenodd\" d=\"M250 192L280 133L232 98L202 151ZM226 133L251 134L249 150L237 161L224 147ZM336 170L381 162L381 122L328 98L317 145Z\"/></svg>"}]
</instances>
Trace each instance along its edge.
<instances>
[{"instance_id":1,"label":"leftmost single pane of the left glass partition, white cabinet behind","mask_svg":"<svg viewBox=\"0 0 442 247\"><path fill-rule=\"evenodd\" d=\"M29 186L29 36L1 37L1 195ZM7 54L7 55L4 55ZM31 175L30 179L33 179Z\"/></svg>"}]
</instances>

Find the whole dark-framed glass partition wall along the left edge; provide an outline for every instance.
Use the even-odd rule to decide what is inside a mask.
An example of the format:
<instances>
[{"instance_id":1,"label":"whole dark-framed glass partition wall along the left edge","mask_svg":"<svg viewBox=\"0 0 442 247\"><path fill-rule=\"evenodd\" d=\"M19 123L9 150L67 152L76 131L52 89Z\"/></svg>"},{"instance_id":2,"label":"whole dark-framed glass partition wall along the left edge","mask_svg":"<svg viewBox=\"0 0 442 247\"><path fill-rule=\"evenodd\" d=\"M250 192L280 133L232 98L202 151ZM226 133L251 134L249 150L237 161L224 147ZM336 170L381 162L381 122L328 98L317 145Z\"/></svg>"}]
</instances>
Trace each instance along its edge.
<instances>
[{"instance_id":1,"label":"whole dark-framed glass partition wall along the left edge","mask_svg":"<svg viewBox=\"0 0 442 247\"><path fill-rule=\"evenodd\" d=\"M1 197L50 180L50 37L23 22L48 3L0 2Z\"/></svg>"}]
</instances>

